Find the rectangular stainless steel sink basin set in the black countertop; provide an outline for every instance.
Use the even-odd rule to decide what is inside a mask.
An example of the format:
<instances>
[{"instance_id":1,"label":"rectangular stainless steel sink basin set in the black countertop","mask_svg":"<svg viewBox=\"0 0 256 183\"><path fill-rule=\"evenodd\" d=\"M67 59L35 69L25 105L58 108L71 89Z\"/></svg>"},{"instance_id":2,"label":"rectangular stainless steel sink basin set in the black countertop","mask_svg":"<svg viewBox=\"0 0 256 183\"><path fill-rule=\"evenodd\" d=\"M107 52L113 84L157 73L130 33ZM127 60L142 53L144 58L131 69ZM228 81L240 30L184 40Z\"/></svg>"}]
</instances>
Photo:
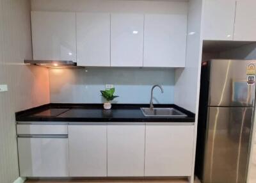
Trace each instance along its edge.
<instances>
[{"instance_id":1,"label":"rectangular stainless steel sink basin set in the black countertop","mask_svg":"<svg viewBox=\"0 0 256 183\"><path fill-rule=\"evenodd\" d=\"M144 116L178 117L184 118L187 115L174 108L141 108Z\"/></svg>"}]
</instances>

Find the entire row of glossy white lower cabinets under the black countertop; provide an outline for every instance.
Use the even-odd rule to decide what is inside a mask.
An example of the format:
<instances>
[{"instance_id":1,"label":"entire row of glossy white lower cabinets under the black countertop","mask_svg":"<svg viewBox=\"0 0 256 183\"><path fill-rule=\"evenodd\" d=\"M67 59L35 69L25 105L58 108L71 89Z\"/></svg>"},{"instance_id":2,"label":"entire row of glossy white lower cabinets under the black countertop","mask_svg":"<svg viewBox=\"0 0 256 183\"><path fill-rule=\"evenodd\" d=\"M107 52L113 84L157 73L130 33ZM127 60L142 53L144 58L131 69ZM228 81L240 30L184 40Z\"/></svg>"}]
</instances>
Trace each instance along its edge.
<instances>
[{"instance_id":1,"label":"entire row of glossy white lower cabinets under the black countertop","mask_svg":"<svg viewBox=\"0 0 256 183\"><path fill-rule=\"evenodd\" d=\"M68 134L67 125L49 127L17 126L21 177L192 175L194 125L83 123L68 125Z\"/></svg>"}]
</instances>

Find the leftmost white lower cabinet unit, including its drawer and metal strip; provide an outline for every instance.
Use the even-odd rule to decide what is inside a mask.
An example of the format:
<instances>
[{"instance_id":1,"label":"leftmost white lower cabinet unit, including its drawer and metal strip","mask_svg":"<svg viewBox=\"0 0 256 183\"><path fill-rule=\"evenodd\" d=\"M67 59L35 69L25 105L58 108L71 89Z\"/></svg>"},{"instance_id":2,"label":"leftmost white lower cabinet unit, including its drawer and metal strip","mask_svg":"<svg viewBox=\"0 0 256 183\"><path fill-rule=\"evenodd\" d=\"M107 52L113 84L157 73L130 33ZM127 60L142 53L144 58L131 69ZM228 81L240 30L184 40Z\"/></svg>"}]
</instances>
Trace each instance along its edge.
<instances>
[{"instance_id":1,"label":"leftmost white lower cabinet unit, including its drawer and metal strip","mask_svg":"<svg viewBox=\"0 0 256 183\"><path fill-rule=\"evenodd\" d=\"M68 125L17 124L20 177L68 177Z\"/></svg>"}]
</instances>

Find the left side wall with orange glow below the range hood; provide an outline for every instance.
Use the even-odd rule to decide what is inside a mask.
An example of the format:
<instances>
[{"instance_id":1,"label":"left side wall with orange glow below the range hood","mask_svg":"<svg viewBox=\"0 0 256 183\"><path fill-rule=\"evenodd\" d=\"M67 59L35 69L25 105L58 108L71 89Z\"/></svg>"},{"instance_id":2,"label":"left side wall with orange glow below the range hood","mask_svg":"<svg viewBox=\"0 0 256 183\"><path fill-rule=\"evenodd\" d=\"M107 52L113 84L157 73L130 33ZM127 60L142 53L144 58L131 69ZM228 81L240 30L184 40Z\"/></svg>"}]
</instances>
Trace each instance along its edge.
<instances>
[{"instance_id":1,"label":"left side wall with orange glow below the range hood","mask_svg":"<svg viewBox=\"0 0 256 183\"><path fill-rule=\"evenodd\" d=\"M30 1L0 0L0 182L19 177L15 112L49 102L47 69L22 65L31 58Z\"/></svg>"}]
</instances>

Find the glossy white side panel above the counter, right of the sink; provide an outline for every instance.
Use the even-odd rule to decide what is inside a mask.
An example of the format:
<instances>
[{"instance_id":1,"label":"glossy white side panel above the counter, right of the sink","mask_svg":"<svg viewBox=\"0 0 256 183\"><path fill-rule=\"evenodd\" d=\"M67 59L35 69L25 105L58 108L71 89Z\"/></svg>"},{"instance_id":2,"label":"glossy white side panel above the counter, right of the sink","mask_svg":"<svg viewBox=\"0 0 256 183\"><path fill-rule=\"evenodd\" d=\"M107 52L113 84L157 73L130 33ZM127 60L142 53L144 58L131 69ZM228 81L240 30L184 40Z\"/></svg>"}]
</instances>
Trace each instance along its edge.
<instances>
[{"instance_id":1,"label":"glossy white side panel above the counter, right of the sink","mask_svg":"<svg viewBox=\"0 0 256 183\"><path fill-rule=\"evenodd\" d=\"M194 113L198 110L202 60L201 16L202 0L189 1L186 68L175 71L175 104Z\"/></svg>"}]
</instances>

